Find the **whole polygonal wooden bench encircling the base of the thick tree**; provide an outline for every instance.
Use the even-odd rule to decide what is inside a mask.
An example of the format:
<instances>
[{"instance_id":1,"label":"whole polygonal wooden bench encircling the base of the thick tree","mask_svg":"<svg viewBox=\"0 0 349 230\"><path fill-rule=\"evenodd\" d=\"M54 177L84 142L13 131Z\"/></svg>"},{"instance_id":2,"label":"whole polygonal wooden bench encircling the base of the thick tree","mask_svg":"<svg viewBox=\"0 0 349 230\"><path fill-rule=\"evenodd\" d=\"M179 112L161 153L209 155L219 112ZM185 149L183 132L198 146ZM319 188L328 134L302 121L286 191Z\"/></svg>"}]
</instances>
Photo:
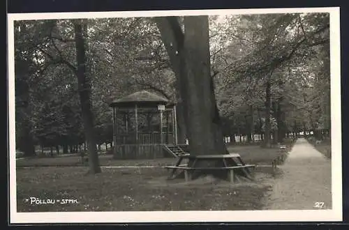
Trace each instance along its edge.
<instances>
[{"instance_id":1,"label":"whole polygonal wooden bench encircling the base of the thick tree","mask_svg":"<svg viewBox=\"0 0 349 230\"><path fill-rule=\"evenodd\" d=\"M188 164L181 164L185 159L188 160ZM200 162L202 161L211 161L214 162L214 164L208 165L207 167L200 167ZM173 166L165 166L166 169L170 170L169 178L174 178L177 170L184 171L184 178L186 181L190 181L193 174L198 171L225 171L231 183L234 183L235 178L237 178L235 176L235 170L240 170L246 178L253 179L249 169L254 167L254 164L245 164L238 153L225 155L180 155L176 164Z\"/></svg>"}]
</instances>

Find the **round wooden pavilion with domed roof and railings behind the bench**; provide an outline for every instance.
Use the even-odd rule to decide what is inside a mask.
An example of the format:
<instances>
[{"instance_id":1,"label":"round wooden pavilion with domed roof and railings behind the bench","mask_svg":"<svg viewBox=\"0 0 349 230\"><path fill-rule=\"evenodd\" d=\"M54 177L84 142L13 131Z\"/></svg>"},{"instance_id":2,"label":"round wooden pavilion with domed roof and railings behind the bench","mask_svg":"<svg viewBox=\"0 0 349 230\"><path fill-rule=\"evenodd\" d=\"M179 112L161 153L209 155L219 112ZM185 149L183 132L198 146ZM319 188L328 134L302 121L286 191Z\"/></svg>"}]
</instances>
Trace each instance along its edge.
<instances>
[{"instance_id":1,"label":"round wooden pavilion with domed roof and railings behind the bench","mask_svg":"<svg viewBox=\"0 0 349 230\"><path fill-rule=\"evenodd\" d=\"M177 154L173 153L177 146L176 105L173 102L155 93L138 91L114 100L110 107L113 111L114 158L149 159Z\"/></svg>"}]
</instances>

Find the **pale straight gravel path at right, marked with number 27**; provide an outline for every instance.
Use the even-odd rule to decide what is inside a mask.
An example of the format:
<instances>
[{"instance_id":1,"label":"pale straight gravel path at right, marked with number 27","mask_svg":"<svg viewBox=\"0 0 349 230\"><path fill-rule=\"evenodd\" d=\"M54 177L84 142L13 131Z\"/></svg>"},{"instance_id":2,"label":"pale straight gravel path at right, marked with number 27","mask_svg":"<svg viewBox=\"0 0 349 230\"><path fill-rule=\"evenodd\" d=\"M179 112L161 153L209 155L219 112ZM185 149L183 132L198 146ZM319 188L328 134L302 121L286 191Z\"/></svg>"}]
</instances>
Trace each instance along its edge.
<instances>
[{"instance_id":1,"label":"pale straight gravel path at right, marked with number 27","mask_svg":"<svg viewBox=\"0 0 349 230\"><path fill-rule=\"evenodd\" d=\"M281 176L274 181L265 209L332 208L331 161L306 139L297 139L279 169Z\"/></svg>"}]
</instances>

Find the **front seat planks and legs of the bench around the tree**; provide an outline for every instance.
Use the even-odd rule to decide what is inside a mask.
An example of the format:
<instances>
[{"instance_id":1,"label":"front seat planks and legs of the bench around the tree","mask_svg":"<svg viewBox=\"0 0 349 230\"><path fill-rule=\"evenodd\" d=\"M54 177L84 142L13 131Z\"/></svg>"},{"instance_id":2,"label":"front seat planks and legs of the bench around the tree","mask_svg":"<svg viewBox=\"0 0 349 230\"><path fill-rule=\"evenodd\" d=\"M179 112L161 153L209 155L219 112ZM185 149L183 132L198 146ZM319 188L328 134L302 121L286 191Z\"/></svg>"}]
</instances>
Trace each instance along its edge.
<instances>
[{"instance_id":1,"label":"front seat planks and legs of the bench around the tree","mask_svg":"<svg viewBox=\"0 0 349 230\"><path fill-rule=\"evenodd\" d=\"M165 166L166 169L181 169L184 170L184 177L186 181L191 180L191 174L188 171L193 170L227 170L228 178L231 183L234 183L234 170L243 168L255 168L254 164L244 164L232 167L187 167L187 166Z\"/></svg>"}]
</instances>

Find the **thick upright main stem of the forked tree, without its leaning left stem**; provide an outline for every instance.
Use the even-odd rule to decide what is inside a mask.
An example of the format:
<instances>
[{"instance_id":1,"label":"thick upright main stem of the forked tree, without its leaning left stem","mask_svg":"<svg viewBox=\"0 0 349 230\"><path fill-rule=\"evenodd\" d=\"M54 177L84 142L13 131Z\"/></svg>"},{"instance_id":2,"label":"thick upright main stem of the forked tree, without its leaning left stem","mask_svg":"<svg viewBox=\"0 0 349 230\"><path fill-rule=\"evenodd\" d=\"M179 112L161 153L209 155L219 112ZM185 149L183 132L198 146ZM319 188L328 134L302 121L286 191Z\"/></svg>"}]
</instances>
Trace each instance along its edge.
<instances>
[{"instance_id":1,"label":"thick upright main stem of the forked tree, without its leaning left stem","mask_svg":"<svg viewBox=\"0 0 349 230\"><path fill-rule=\"evenodd\" d=\"M207 16L184 17L184 56L186 76L181 93L186 95L186 126L193 155L225 154L221 118L218 114L209 59ZM182 80L182 79L181 79Z\"/></svg>"}]
</instances>

